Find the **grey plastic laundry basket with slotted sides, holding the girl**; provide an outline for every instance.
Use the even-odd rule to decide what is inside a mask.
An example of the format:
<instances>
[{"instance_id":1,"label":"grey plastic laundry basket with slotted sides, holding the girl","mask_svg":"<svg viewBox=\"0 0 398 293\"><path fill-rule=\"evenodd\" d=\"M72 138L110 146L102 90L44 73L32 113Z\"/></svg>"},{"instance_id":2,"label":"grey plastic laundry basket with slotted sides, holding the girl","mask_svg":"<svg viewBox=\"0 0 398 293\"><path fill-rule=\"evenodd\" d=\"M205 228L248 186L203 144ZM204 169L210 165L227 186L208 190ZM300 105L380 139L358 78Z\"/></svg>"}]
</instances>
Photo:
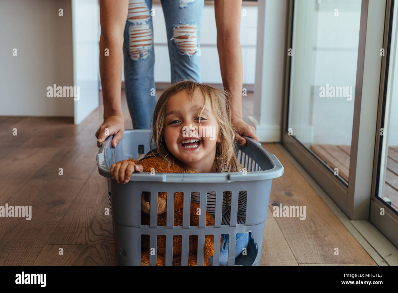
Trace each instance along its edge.
<instances>
[{"instance_id":1,"label":"grey plastic laundry basket with slotted sides, holding the girl","mask_svg":"<svg viewBox=\"0 0 398 293\"><path fill-rule=\"evenodd\" d=\"M149 151L150 130L126 130L124 138L116 149L111 146L113 136L109 136L100 146L97 154L98 172L108 179L108 193L112 211L113 230L117 246L119 265L140 265L141 235L150 235L150 265L156 265L156 243L158 235L166 235L166 265L172 265L173 236L182 235L181 265L188 263L189 236L198 236L197 264L203 265L205 236L214 235L215 253L213 265L219 264L220 235L230 234L228 265L258 265L265 218L267 217L269 194L273 178L283 175L283 166L275 155L268 153L261 144L252 138L246 138L247 144L238 144L238 161L247 169L234 173L155 173L133 172L126 184L111 179L110 166L129 157L137 158ZM152 148L154 146L152 145ZM167 192L166 226L157 225L157 209L150 209L150 225L141 225L141 193L151 194ZM183 225L173 226L174 193L183 192ZM216 214L214 226L206 226L206 213L199 215L199 226L189 225L191 192L200 192L200 208L206 209L208 191L216 192ZM232 191L231 219L229 225L221 225L222 195ZM245 224L236 224L238 211L238 193L247 191ZM170 196L173 195L173 196ZM171 200L169 200L171 199ZM150 205L157 206L158 197L150 197ZM240 254L235 260L236 233L252 232L257 243L249 245L255 249L255 257L248 258ZM233 236L232 236L233 235ZM250 253L247 252L247 256Z\"/></svg>"}]
</instances>

